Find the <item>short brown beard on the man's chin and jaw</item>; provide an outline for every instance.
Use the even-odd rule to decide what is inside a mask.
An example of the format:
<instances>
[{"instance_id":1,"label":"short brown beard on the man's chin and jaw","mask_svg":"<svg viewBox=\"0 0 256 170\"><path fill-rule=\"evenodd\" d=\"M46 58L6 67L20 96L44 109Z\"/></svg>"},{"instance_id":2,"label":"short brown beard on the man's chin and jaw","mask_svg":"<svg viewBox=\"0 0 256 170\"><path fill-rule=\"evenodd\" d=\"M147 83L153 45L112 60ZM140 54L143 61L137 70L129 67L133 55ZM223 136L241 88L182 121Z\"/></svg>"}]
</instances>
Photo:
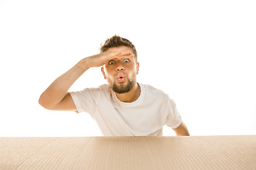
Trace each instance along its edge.
<instances>
[{"instance_id":1,"label":"short brown beard on the man's chin and jaw","mask_svg":"<svg viewBox=\"0 0 256 170\"><path fill-rule=\"evenodd\" d=\"M119 83L119 85L118 85L115 82L112 84L109 82L109 84L110 84L111 89L114 92L116 92L117 94L125 94L125 93L131 91L132 87L136 84L136 81L132 81L130 79L127 79L127 81L128 81L128 84L126 86L124 85L124 83Z\"/></svg>"}]
</instances>

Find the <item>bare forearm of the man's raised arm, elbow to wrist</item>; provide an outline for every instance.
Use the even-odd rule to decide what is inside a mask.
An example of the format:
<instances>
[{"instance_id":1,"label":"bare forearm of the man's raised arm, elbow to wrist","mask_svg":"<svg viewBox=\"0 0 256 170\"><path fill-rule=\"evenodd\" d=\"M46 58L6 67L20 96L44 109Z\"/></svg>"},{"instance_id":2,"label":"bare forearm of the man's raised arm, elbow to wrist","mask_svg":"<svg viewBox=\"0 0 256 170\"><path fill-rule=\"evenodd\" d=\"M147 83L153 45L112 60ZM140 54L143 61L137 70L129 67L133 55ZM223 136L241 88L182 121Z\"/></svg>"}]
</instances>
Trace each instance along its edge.
<instances>
[{"instance_id":1,"label":"bare forearm of the man's raised arm, elbow to wrist","mask_svg":"<svg viewBox=\"0 0 256 170\"><path fill-rule=\"evenodd\" d=\"M64 96L68 93L70 86L75 83L75 81L89 69L86 64L86 58L75 64L74 67L65 72L60 77L55 79L46 91L41 94L39 98L39 103L44 108L50 108L59 103Z\"/></svg>"}]
</instances>

